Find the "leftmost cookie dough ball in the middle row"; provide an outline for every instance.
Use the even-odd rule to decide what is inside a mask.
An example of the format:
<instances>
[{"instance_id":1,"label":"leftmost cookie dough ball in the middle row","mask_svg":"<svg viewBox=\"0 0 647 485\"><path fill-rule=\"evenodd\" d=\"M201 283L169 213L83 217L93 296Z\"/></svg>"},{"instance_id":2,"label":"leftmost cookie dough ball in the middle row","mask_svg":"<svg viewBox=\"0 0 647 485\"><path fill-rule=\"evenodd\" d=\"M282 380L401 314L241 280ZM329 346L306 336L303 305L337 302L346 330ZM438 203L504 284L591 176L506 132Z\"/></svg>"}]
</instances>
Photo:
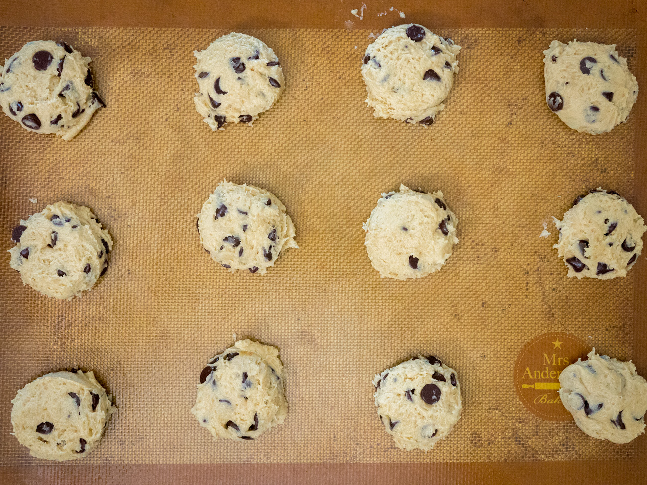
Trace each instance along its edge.
<instances>
[{"instance_id":1,"label":"leftmost cookie dough ball in the middle row","mask_svg":"<svg viewBox=\"0 0 647 485\"><path fill-rule=\"evenodd\" d=\"M113 240L88 208L57 202L12 232L11 267L43 295L71 299L92 288L108 267Z\"/></svg>"}]
</instances>

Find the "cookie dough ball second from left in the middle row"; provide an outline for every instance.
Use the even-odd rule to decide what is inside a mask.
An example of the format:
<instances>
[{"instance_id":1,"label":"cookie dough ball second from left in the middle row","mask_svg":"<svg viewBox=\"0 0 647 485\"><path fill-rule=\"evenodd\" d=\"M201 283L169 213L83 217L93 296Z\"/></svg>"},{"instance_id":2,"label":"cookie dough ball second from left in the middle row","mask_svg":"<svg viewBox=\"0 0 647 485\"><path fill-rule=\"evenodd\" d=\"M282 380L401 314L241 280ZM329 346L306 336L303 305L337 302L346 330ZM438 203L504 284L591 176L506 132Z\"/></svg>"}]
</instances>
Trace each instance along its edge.
<instances>
[{"instance_id":1,"label":"cookie dough ball second from left in the middle row","mask_svg":"<svg viewBox=\"0 0 647 485\"><path fill-rule=\"evenodd\" d=\"M204 202L197 228L206 252L231 272L264 274L282 250L299 247L276 195L226 180Z\"/></svg>"}]
</instances>

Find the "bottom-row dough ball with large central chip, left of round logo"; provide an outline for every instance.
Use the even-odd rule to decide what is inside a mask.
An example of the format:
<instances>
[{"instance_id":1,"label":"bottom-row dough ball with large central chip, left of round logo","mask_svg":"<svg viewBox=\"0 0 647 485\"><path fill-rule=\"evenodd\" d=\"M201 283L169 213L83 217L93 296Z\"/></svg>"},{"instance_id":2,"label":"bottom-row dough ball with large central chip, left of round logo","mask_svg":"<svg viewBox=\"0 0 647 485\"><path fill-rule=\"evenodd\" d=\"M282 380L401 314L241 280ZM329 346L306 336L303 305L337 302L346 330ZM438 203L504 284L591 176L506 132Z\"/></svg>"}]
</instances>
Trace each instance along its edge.
<instances>
[{"instance_id":1,"label":"bottom-row dough ball with large central chip, left of round logo","mask_svg":"<svg viewBox=\"0 0 647 485\"><path fill-rule=\"evenodd\" d=\"M461 418L461 384L438 358L413 357L373 378L384 429L400 448L428 451Z\"/></svg>"}]
</instances>

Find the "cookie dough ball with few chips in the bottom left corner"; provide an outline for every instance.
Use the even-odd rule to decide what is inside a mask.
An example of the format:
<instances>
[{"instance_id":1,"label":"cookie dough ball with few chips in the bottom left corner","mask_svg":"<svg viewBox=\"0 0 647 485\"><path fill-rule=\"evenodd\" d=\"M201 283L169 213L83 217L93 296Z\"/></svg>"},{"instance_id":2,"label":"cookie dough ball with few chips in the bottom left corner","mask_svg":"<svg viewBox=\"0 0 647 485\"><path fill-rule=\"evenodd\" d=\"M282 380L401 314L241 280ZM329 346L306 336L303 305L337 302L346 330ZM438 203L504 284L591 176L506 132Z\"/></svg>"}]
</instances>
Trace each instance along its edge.
<instances>
[{"instance_id":1,"label":"cookie dough ball with few chips in the bottom left corner","mask_svg":"<svg viewBox=\"0 0 647 485\"><path fill-rule=\"evenodd\" d=\"M93 372L78 369L33 380L12 404L13 434L20 444L36 458L59 461L90 453L116 410Z\"/></svg>"}]
</instances>

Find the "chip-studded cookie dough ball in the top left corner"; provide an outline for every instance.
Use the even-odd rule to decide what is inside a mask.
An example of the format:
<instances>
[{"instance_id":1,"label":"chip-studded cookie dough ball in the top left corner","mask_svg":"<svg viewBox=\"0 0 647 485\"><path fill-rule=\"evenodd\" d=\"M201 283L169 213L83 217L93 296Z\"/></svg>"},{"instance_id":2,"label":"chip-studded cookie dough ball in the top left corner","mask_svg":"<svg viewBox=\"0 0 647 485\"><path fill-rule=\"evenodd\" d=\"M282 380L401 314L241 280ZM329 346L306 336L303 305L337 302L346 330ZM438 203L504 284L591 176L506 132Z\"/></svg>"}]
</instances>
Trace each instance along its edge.
<instances>
[{"instance_id":1,"label":"chip-studded cookie dough ball in the top left corner","mask_svg":"<svg viewBox=\"0 0 647 485\"><path fill-rule=\"evenodd\" d=\"M28 42L0 72L0 106L29 131L71 140L105 107L90 61L65 42Z\"/></svg>"}]
</instances>

